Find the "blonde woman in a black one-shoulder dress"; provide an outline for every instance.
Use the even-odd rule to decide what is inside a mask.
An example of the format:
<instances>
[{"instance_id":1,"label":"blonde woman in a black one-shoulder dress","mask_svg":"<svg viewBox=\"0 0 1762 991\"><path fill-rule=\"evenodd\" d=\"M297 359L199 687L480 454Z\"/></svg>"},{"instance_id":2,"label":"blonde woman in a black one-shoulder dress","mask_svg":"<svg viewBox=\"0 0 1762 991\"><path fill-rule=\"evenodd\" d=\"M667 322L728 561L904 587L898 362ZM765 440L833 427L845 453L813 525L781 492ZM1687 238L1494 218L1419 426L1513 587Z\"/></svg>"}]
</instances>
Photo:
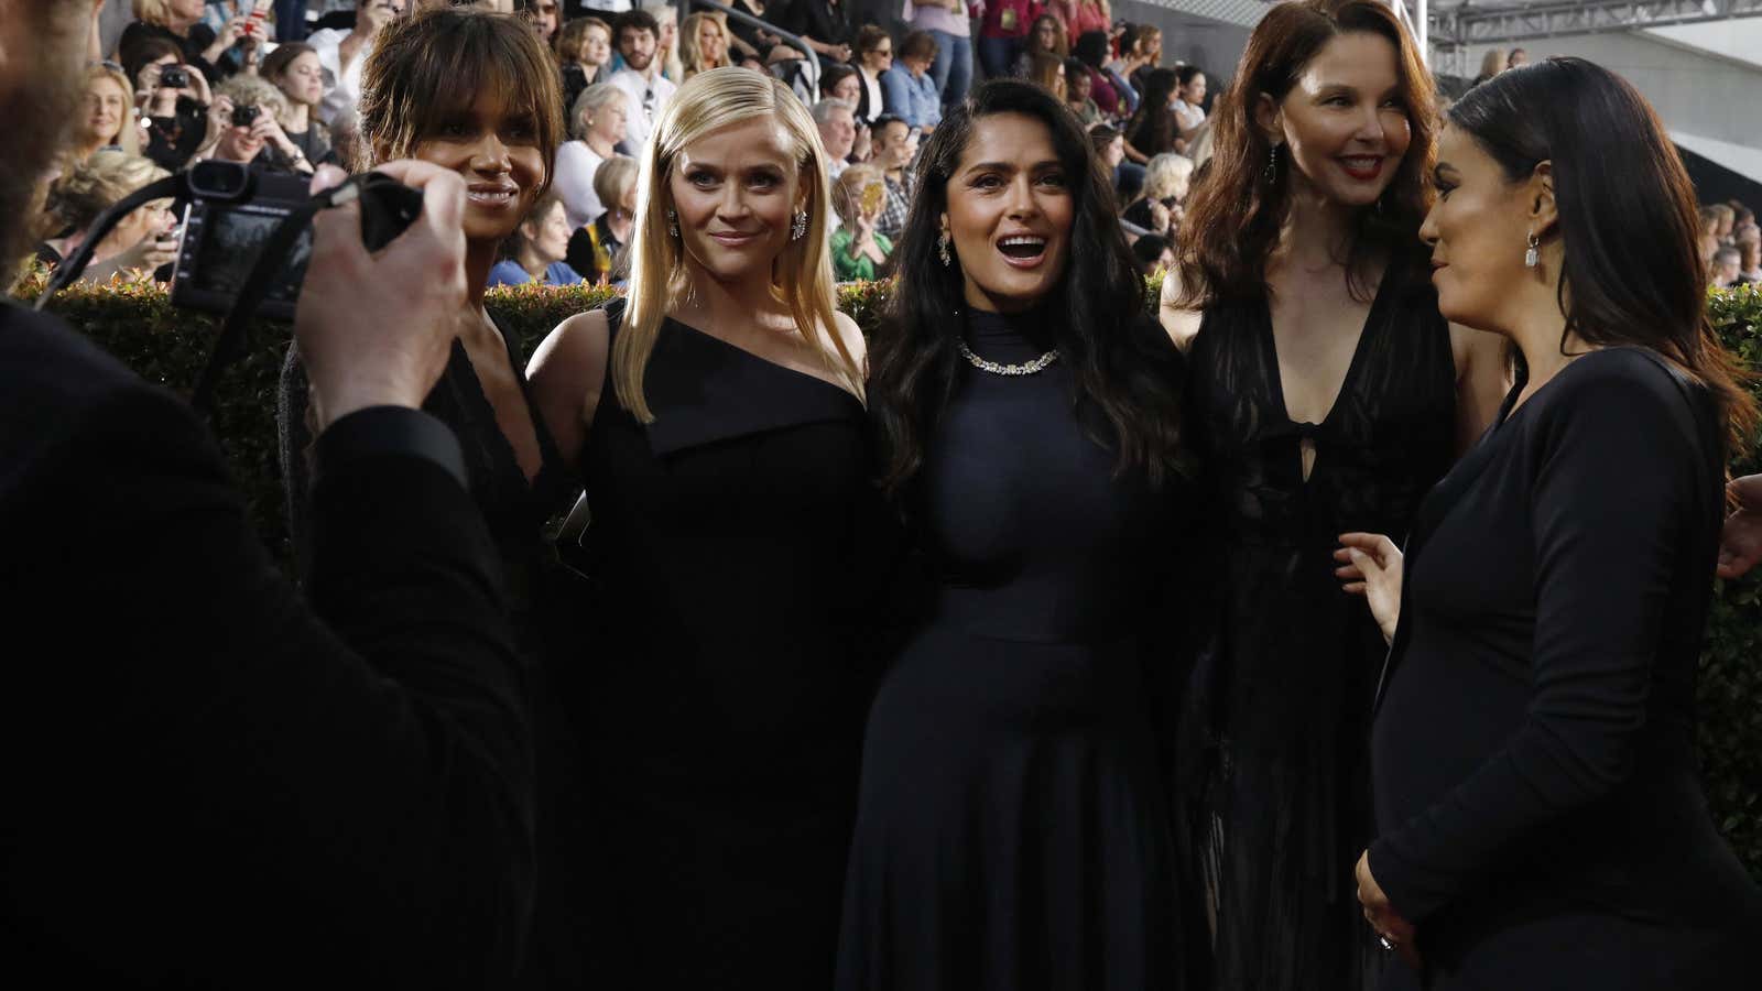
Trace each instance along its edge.
<instances>
[{"instance_id":1,"label":"blonde woman in a black one-shoulder dress","mask_svg":"<svg viewBox=\"0 0 1762 991\"><path fill-rule=\"evenodd\" d=\"M567 705L608 987L825 991L874 681L863 340L833 305L825 152L745 69L645 145L626 300L557 326L539 407L587 485Z\"/></svg>"}]
</instances>

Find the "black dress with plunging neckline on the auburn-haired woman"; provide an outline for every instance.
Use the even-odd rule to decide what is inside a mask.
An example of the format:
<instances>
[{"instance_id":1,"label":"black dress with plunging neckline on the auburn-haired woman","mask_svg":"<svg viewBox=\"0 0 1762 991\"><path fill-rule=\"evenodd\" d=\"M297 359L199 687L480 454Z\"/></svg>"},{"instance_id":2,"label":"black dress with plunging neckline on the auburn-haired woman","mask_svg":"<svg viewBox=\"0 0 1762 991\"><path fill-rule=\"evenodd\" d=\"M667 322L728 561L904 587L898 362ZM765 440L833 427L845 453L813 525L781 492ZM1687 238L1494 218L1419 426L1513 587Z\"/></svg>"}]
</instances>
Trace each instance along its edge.
<instances>
[{"instance_id":1,"label":"black dress with plunging neckline on the auburn-haired woman","mask_svg":"<svg viewBox=\"0 0 1762 991\"><path fill-rule=\"evenodd\" d=\"M1223 601L1189 691L1182 825L1214 898L1218 987L1359 987L1378 966L1351 868L1371 838L1387 647L1341 592L1332 552L1346 531L1399 543L1448 469L1450 330L1424 275L1392 265L1318 425L1286 416L1265 298L1209 307L1191 358L1188 427Z\"/></svg>"}]
</instances>

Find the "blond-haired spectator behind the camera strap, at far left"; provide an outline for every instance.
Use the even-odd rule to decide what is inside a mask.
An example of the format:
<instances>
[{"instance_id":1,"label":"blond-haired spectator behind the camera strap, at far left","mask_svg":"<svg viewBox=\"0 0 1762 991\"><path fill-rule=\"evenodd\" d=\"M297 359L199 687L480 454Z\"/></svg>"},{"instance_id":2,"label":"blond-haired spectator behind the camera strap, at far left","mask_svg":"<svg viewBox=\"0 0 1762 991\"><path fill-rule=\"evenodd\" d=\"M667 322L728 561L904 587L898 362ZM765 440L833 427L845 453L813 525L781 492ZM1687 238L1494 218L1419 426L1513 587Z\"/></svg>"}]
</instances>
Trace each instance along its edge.
<instances>
[{"instance_id":1,"label":"blond-haired spectator behind the camera strap, at far left","mask_svg":"<svg viewBox=\"0 0 1762 991\"><path fill-rule=\"evenodd\" d=\"M100 150L78 162L49 187L44 208L60 227L60 236L37 247L37 257L60 265L85 243L86 227L134 190L166 178L166 169L141 155ZM92 265L79 273L81 282L109 282L113 275L150 277L178 256L171 201L160 199L123 217L92 252Z\"/></svg>"}]
</instances>

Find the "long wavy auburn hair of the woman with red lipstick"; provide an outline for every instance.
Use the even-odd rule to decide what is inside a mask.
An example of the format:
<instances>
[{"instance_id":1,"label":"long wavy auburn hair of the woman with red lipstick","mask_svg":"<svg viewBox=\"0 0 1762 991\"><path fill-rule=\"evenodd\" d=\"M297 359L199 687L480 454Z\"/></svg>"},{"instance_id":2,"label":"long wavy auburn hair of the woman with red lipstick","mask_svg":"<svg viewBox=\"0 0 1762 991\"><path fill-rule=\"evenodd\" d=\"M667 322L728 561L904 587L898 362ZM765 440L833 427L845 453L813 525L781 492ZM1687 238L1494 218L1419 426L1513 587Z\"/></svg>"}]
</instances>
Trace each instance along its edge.
<instances>
[{"instance_id":1,"label":"long wavy auburn hair of the woman with red lipstick","mask_svg":"<svg viewBox=\"0 0 1762 991\"><path fill-rule=\"evenodd\" d=\"M1247 39L1230 90L1212 108L1212 157L1186 203L1181 250L1181 305L1203 309L1267 291L1267 256L1277 245L1290 206L1290 152L1276 152L1255 122L1262 93L1283 101L1329 41L1353 32L1396 46L1401 104L1411 125L1408 153L1374 206L1359 212L1346 263L1353 298L1376 293L1378 261L1424 261L1418 229L1431 206L1436 113L1431 74L1418 46L1380 0L1300 0L1274 4ZM1267 164L1274 162L1269 175Z\"/></svg>"}]
</instances>

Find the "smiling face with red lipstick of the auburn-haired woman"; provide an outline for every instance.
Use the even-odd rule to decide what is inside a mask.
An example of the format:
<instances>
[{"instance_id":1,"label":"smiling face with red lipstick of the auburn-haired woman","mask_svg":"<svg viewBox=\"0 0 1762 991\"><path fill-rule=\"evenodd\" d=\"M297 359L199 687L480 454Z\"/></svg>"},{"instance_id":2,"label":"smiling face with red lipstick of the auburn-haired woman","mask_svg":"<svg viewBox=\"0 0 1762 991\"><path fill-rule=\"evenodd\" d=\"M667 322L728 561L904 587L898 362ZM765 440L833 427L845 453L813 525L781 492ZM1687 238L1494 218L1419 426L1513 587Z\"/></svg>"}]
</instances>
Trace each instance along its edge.
<instances>
[{"instance_id":1,"label":"smiling face with red lipstick of the auburn-haired woman","mask_svg":"<svg viewBox=\"0 0 1762 991\"><path fill-rule=\"evenodd\" d=\"M1260 125L1292 155L1292 180L1346 206L1369 206L1396 180L1413 127L1401 97L1396 46L1378 34L1336 35L1276 106L1262 93Z\"/></svg>"}]
</instances>

